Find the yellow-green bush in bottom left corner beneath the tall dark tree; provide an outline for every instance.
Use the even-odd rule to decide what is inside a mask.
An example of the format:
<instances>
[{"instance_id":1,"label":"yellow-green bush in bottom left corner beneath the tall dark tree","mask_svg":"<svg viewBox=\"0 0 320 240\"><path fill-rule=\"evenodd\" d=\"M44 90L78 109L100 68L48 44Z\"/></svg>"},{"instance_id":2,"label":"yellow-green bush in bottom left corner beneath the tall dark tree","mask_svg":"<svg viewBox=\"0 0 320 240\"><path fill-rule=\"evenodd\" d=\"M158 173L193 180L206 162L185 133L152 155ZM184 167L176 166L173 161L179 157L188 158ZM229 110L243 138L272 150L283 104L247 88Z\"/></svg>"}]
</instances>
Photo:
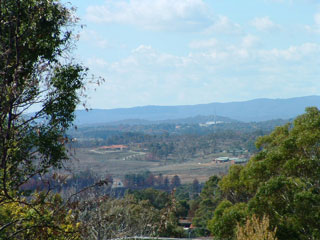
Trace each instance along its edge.
<instances>
[{"instance_id":1,"label":"yellow-green bush in bottom left corner beneath the tall dark tree","mask_svg":"<svg viewBox=\"0 0 320 240\"><path fill-rule=\"evenodd\" d=\"M80 239L80 223L59 195L35 193L33 200L13 199L0 205L0 239Z\"/></svg>"}]
</instances>

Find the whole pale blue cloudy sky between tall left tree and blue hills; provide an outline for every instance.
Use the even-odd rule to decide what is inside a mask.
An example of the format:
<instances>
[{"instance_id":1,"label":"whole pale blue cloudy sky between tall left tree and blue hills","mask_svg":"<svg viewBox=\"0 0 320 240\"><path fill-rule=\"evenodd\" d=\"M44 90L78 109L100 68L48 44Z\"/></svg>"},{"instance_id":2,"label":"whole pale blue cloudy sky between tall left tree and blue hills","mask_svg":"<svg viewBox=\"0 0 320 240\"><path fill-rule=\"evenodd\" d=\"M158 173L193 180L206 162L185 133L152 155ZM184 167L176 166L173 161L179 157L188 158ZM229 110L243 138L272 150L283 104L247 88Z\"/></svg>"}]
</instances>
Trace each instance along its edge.
<instances>
[{"instance_id":1,"label":"whole pale blue cloudy sky between tall left tree and blue hills","mask_svg":"<svg viewBox=\"0 0 320 240\"><path fill-rule=\"evenodd\" d=\"M313 0L72 0L92 108L320 94Z\"/></svg>"}]
</instances>

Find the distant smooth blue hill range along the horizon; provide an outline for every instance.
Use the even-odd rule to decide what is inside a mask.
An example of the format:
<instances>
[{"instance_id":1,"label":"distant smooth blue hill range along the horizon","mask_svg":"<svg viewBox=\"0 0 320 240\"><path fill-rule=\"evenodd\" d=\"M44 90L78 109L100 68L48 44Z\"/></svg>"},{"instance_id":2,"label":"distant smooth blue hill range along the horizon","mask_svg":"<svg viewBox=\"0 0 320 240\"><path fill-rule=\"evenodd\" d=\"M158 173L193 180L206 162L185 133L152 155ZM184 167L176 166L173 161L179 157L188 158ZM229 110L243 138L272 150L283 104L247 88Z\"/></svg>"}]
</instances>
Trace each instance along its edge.
<instances>
[{"instance_id":1,"label":"distant smooth blue hill range along the horizon","mask_svg":"<svg viewBox=\"0 0 320 240\"><path fill-rule=\"evenodd\" d=\"M144 106L118 109L78 110L76 124L93 124L137 119L139 121L161 121L192 118L198 115L218 115L238 121L267 121L289 119L302 114L306 107L320 108L320 96L289 99L254 99L245 102L209 103L185 106Z\"/></svg>"}]
</instances>

